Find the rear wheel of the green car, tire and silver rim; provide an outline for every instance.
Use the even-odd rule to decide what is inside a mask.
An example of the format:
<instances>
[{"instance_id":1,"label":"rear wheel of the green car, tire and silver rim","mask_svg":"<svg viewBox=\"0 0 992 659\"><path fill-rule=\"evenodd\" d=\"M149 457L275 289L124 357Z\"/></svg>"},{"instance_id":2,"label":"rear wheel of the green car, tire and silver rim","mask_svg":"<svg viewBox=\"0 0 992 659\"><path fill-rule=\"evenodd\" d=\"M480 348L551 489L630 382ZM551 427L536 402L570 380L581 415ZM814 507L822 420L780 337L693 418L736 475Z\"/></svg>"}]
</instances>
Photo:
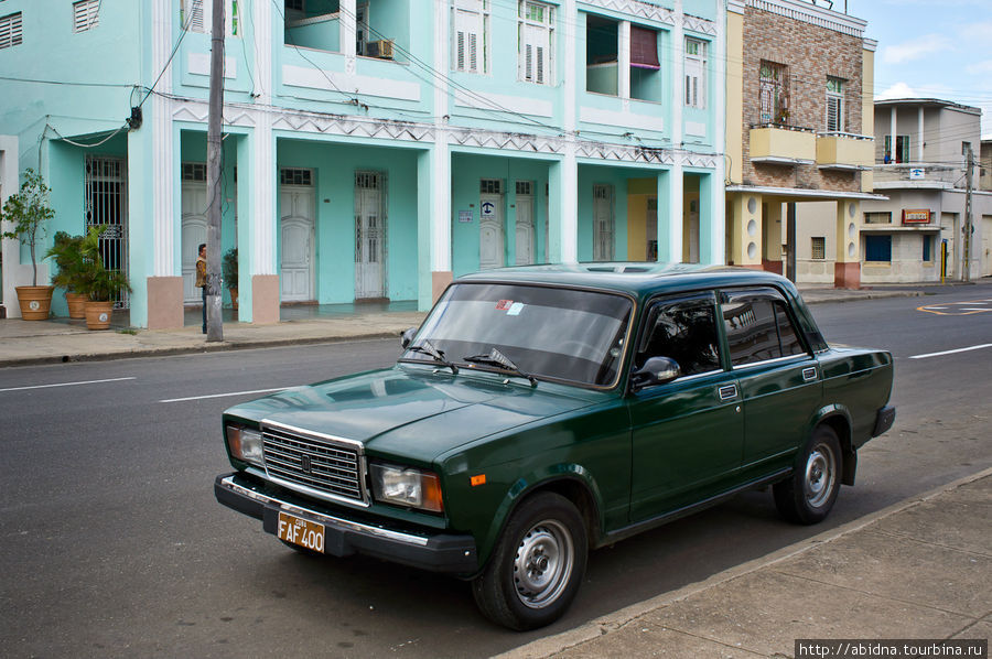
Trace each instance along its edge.
<instances>
[{"instance_id":1,"label":"rear wheel of the green car, tire and silver rim","mask_svg":"<svg viewBox=\"0 0 992 659\"><path fill-rule=\"evenodd\" d=\"M828 425L817 426L806 442L792 475L772 488L778 514L792 523L822 521L837 501L841 460L837 433Z\"/></svg>"}]
</instances>

